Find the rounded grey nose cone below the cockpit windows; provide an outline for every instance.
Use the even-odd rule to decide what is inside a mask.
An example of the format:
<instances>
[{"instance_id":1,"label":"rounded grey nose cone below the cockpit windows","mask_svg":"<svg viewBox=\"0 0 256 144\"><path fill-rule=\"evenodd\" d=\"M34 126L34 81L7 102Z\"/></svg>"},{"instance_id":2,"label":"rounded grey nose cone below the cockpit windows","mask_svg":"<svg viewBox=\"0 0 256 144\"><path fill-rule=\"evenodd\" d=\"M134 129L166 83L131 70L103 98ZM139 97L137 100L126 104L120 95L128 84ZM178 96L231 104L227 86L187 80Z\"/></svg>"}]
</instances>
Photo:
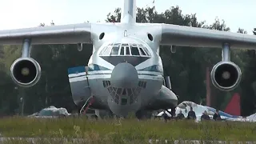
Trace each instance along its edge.
<instances>
[{"instance_id":1,"label":"rounded grey nose cone below the cockpit windows","mask_svg":"<svg viewBox=\"0 0 256 144\"><path fill-rule=\"evenodd\" d=\"M136 87L138 85L137 70L130 63L118 63L112 71L110 81L114 87Z\"/></svg>"}]
</instances>

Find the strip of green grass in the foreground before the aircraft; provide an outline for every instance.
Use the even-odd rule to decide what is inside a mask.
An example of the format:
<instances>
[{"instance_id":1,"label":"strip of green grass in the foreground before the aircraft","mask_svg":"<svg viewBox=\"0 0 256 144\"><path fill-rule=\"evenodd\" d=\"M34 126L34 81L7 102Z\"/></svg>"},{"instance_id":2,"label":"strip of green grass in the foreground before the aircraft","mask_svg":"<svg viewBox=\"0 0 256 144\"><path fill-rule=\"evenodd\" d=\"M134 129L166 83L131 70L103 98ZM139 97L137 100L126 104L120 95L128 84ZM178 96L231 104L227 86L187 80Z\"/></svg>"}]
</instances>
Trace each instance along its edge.
<instances>
[{"instance_id":1,"label":"strip of green grass in the foreground before the aircraft","mask_svg":"<svg viewBox=\"0 0 256 144\"><path fill-rule=\"evenodd\" d=\"M256 123L137 119L2 118L4 137L86 138L86 143L142 143L152 139L256 141ZM14 142L16 143L16 142Z\"/></svg>"}]
</instances>

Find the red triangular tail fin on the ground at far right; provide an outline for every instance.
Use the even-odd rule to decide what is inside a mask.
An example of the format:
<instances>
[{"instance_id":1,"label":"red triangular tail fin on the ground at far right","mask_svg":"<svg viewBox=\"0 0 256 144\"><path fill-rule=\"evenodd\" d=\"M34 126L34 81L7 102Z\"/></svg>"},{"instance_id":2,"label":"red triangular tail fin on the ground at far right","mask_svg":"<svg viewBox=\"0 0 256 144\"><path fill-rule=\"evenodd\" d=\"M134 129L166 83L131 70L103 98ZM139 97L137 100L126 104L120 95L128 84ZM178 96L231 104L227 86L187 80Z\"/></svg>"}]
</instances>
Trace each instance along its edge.
<instances>
[{"instance_id":1,"label":"red triangular tail fin on the ground at far right","mask_svg":"<svg viewBox=\"0 0 256 144\"><path fill-rule=\"evenodd\" d=\"M230 102L227 104L226 109L224 110L227 114L232 114L239 116L241 115L240 109L240 95L235 93L231 98Z\"/></svg>"}]
</instances>

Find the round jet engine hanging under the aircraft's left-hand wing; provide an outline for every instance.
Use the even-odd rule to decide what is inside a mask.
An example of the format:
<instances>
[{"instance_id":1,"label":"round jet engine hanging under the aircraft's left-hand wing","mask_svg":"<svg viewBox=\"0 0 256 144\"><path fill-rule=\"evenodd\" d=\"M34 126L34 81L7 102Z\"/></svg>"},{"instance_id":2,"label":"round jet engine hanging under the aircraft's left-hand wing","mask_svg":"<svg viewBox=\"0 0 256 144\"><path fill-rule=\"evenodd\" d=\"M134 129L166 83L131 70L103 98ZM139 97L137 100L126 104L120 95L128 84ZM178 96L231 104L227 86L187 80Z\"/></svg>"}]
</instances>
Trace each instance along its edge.
<instances>
[{"instance_id":1,"label":"round jet engine hanging under the aircraft's left-hand wing","mask_svg":"<svg viewBox=\"0 0 256 144\"><path fill-rule=\"evenodd\" d=\"M34 86L41 77L41 66L33 58L18 58L10 66L10 77L18 86Z\"/></svg>"}]
</instances>

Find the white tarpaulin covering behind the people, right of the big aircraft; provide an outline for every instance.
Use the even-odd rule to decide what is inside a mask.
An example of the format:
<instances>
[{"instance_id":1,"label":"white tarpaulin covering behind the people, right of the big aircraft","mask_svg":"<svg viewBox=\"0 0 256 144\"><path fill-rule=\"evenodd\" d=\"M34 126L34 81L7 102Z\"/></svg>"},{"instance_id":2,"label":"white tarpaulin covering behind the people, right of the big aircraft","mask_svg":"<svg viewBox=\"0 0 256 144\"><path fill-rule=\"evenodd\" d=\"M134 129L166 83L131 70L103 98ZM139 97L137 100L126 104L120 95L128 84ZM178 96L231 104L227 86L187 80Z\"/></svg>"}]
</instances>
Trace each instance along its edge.
<instances>
[{"instance_id":1,"label":"white tarpaulin covering behind the people, right of the big aircraft","mask_svg":"<svg viewBox=\"0 0 256 144\"><path fill-rule=\"evenodd\" d=\"M202 106L198 105L194 102L189 102L189 101L184 101L180 103L177 108L176 108L176 115L182 110L182 114L184 114L185 117L187 117L188 112L190 111L190 106L193 108L196 116L197 116L197 121L201 121L201 116L202 113L206 110L207 114L209 114L210 118L213 117L214 112L216 111L214 108L209 107L209 106ZM168 111L171 111L170 109ZM162 116L164 111L160 112L157 116ZM234 116L230 114L226 114L223 111L219 112L221 114L222 119L226 119L229 121L242 121L242 122L256 122L256 114L252 114L249 117L242 118L241 116ZM166 114L168 116L171 116L167 111Z\"/></svg>"}]
</instances>

